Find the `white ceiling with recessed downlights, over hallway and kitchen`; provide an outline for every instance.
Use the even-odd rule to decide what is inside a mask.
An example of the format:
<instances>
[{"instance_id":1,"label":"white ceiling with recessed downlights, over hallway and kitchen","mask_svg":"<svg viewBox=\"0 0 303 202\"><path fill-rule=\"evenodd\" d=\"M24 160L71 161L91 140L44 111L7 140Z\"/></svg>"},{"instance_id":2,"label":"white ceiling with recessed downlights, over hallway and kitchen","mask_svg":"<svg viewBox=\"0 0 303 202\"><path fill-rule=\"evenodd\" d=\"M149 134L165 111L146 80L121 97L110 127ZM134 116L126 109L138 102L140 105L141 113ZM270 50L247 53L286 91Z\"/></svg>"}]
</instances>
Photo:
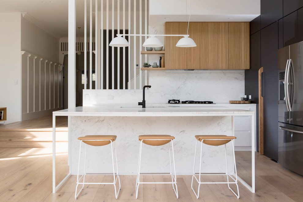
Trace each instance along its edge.
<instances>
[{"instance_id":1,"label":"white ceiling with recessed downlights, over hallway and kitchen","mask_svg":"<svg viewBox=\"0 0 303 202\"><path fill-rule=\"evenodd\" d=\"M51 1L53 1L53 3L51 3ZM76 27L83 28L84 0L75 1L77 9ZM139 1L140 0L137 0L137 2ZM189 11L186 11L184 9L184 7L186 7L186 0L149 1L150 8L152 10L149 18L150 25L161 25L164 24L165 21L185 21L186 17L188 16ZM87 2L89 2L89 0L87 0ZM92 7L94 11L95 0L92 0L92 2ZM106 11L106 0L104 0L103 2L103 10ZM111 11L111 0L109 0L109 2L109 10ZM222 2L225 2L225 4L222 5ZM226 2L229 3L227 4ZM114 3L114 9L117 10L118 1L114 0ZM119 3L120 10L122 10L123 0L119 0ZM36 24L44 31L50 33L57 39L68 36L68 0L0 0L0 5L0 13L26 13L24 15L26 19ZM137 6L139 6L139 3L137 3ZM125 7L127 11L128 0L125 0ZM259 13L255 11L256 7L259 8ZM251 21L260 14L260 0L191 0L191 8L191 21L223 21L223 19L225 19L224 21ZM246 11L245 9L247 8L254 9L254 11ZM213 12L211 12L212 9ZM101 10L100 3L98 4L98 10ZM245 10L245 13L237 12L238 10ZM201 15L201 13L203 13L203 15ZM226 20L227 16L233 17L233 19ZM165 17L169 17L169 19L164 19ZM94 24L95 22L93 20L93 25ZM80 30L80 35L82 35L83 29ZM76 33L78 36L78 30Z\"/></svg>"}]
</instances>

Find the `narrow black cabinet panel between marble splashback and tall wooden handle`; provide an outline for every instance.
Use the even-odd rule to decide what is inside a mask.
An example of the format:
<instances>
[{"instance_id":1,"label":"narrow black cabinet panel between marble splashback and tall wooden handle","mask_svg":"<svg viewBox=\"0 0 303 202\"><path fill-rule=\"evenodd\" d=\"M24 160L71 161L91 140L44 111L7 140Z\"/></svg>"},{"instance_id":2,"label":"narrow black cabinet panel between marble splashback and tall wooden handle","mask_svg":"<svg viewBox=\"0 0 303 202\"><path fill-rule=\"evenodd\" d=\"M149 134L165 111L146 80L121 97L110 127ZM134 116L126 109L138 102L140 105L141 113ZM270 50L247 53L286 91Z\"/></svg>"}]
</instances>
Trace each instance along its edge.
<instances>
[{"instance_id":1,"label":"narrow black cabinet panel between marble splashback and tall wooden handle","mask_svg":"<svg viewBox=\"0 0 303 202\"><path fill-rule=\"evenodd\" d=\"M250 69L245 70L245 95L252 96L252 103L259 103L259 69L261 67L261 39L258 32L250 35ZM259 151L259 105L256 112L257 151Z\"/></svg>"}]
</instances>

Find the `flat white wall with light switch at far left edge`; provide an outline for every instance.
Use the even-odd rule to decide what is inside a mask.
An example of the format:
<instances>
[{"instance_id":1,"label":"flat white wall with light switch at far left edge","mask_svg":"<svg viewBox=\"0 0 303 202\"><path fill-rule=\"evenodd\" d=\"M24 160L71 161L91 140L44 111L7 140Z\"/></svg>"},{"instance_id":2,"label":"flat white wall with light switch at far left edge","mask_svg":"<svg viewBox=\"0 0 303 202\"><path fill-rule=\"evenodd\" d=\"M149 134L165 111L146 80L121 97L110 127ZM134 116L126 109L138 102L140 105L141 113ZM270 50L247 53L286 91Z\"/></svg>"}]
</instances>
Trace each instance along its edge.
<instances>
[{"instance_id":1,"label":"flat white wall with light switch at far left edge","mask_svg":"<svg viewBox=\"0 0 303 202\"><path fill-rule=\"evenodd\" d=\"M21 121L21 14L0 13L0 27L0 106L12 123Z\"/></svg>"}]
</instances>

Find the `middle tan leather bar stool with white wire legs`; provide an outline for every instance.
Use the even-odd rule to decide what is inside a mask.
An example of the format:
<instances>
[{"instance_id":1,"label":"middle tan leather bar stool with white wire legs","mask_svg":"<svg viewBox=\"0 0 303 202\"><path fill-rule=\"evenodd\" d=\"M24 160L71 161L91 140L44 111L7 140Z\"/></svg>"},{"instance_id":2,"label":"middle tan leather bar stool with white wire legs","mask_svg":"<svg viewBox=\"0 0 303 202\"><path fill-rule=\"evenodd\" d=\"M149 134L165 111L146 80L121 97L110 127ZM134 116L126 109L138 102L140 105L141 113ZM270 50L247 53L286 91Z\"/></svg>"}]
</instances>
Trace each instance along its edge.
<instances>
[{"instance_id":1,"label":"middle tan leather bar stool with white wire legs","mask_svg":"<svg viewBox=\"0 0 303 202\"><path fill-rule=\"evenodd\" d=\"M174 159L174 145L173 140L175 138L170 135L139 135L140 140L140 151L139 151L139 162L138 162L138 173L137 173L137 181L136 181L136 199L138 198L138 189L140 184L172 184L174 192L178 199L178 187L177 187L177 178L176 178L176 167L175 167L175 159ZM142 143L148 144L151 146L161 146L164 144L168 144L169 147L169 160L170 160L170 174L171 182L140 182L140 166L141 166L141 151L142 151ZM172 166L171 166L171 155L170 155L170 143L171 143L171 150L173 153L173 163L174 163L174 174L172 173ZM162 173L163 174L163 173ZM176 188L174 187L176 186Z\"/></svg>"}]
</instances>

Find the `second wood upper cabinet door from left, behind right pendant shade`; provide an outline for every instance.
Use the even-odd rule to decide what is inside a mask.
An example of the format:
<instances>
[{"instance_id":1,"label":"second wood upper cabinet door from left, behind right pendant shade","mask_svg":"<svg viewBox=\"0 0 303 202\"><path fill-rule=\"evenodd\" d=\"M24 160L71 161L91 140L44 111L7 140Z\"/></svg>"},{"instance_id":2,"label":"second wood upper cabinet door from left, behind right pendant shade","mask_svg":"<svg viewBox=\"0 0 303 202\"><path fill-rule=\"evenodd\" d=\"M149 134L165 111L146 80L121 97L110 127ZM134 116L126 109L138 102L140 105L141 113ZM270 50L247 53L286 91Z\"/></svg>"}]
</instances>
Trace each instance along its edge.
<instances>
[{"instance_id":1,"label":"second wood upper cabinet door from left, behind right pendant shade","mask_svg":"<svg viewBox=\"0 0 303 202\"><path fill-rule=\"evenodd\" d=\"M187 69L209 69L208 24L207 22L189 23L189 37L197 46L187 48Z\"/></svg>"}]
</instances>

